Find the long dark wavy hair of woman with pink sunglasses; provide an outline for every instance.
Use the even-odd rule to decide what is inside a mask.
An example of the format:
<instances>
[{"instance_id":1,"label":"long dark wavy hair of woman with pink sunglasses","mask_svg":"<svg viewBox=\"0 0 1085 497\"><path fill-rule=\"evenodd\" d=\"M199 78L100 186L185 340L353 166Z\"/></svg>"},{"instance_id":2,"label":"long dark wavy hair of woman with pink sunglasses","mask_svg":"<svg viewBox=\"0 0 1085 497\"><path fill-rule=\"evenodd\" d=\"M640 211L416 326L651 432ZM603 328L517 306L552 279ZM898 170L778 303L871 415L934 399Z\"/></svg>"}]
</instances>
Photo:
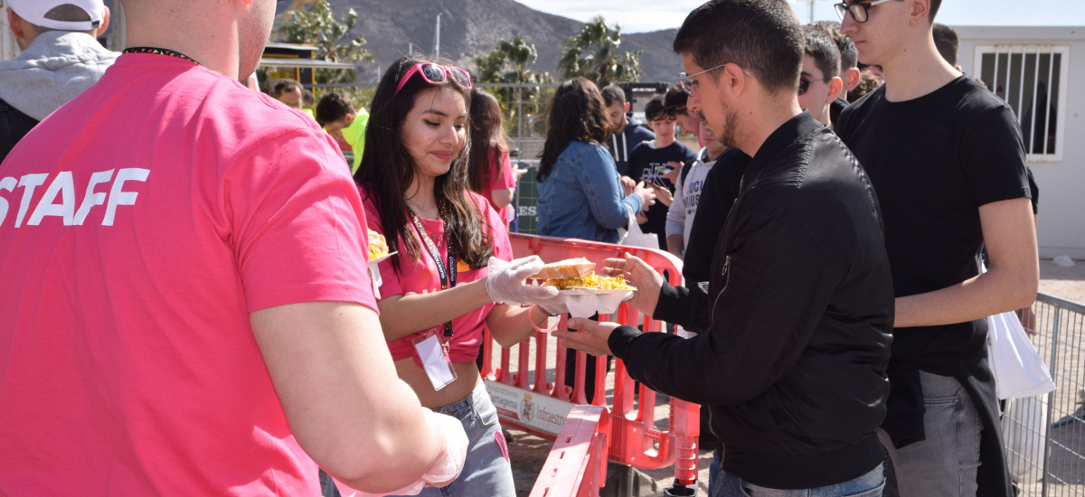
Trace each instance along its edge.
<instances>
[{"instance_id":1,"label":"long dark wavy hair of woman with pink sunglasses","mask_svg":"<svg viewBox=\"0 0 1085 497\"><path fill-rule=\"evenodd\" d=\"M413 55L407 55L392 63L392 66L381 77L373 94L372 110L369 113L369 124L366 127L366 149L361 163L354 179L361 187L363 196L372 196L376 204L384 227L384 237L392 250L399 240L404 241L407 256L418 263L421 255L421 242L413 233L410 218L407 215L407 202L404 196L410 187L411 179L418 174L418 165L404 146L400 136L407 114L414 107L419 95L434 88L449 87L463 95L465 106L470 106L471 95L455 78L447 78L441 85L430 85L420 74L411 76L399 93L396 87L414 64L429 62ZM434 180L434 196L437 202L447 205L445 237L448 246L456 255L472 268L486 266L494 253L493 240L483 230L483 219L480 207L467 194L468 175L467 157L471 149L470 131L463 150L452 160L448 173ZM399 257L392 258L396 271L400 270ZM455 269L452 269L455 270Z\"/></svg>"}]
</instances>

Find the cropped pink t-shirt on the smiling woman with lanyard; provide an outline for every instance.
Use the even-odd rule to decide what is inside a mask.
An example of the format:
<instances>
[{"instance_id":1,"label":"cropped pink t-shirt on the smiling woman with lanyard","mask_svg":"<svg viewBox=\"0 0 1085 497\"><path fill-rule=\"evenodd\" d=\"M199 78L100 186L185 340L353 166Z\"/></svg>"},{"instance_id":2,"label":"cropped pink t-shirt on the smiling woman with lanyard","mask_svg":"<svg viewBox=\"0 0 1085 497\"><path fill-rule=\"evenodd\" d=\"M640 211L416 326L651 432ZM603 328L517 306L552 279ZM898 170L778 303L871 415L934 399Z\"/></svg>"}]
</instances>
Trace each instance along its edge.
<instances>
[{"instance_id":1,"label":"cropped pink t-shirt on the smiling woman with lanyard","mask_svg":"<svg viewBox=\"0 0 1085 497\"><path fill-rule=\"evenodd\" d=\"M497 217L497 212L477 193L468 193L471 195L471 200L475 202L475 205L478 206L478 212L483 216L483 229L494 240L494 257L511 260L512 246L509 243L509 231L500 218ZM384 234L384 229L381 226L381 216L378 214L373 199L365 194L362 196L365 196L362 203L366 206L366 221L369 222L369 229ZM419 218L419 220L429 233L430 239L437 244L442 263L447 264L448 243L445 240L444 222L441 219ZM411 232L416 237L418 235L413 224L411 224ZM433 260L433 256L425 248L425 245L421 244L421 254L419 255L418 264L412 263L410 257L407 256L407 247L404 245L403 240L399 240L396 246L399 254L393 257L399 257L400 273L396 273L392 267L391 257L378 263L378 267L381 270L381 296L425 294L439 291L441 277L437 276L437 266ZM462 259L456 264L456 284L481 280L486 278L487 275L489 275L489 271L485 267L471 269ZM492 308L494 308L494 305L489 304L477 309L471 309L462 316L452 319L452 340L449 347L449 356L452 362L472 362L478 356L478 345L482 343L483 327L485 326L486 315L489 314L489 309ZM444 324L430 330L420 330L419 333L388 342L392 358L399 360L406 357L413 357L414 362L421 366L422 364L418 357L418 352L414 351L412 340L420 333L431 330L436 331L437 336L443 336Z\"/></svg>"}]
</instances>

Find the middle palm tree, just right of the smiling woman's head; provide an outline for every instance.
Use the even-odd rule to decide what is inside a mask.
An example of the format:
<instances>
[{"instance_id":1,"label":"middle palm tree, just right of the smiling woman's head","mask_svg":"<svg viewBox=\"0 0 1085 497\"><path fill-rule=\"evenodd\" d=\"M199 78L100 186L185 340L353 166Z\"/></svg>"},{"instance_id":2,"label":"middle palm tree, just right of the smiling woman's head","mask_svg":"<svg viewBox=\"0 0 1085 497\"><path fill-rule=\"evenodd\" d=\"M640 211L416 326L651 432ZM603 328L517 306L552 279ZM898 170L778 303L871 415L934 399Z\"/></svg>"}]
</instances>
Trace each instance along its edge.
<instances>
[{"instance_id":1,"label":"middle palm tree, just right of the smiling woman's head","mask_svg":"<svg viewBox=\"0 0 1085 497\"><path fill-rule=\"evenodd\" d=\"M527 43L520 35L511 40L502 40L489 53L474 59L478 82L520 85L515 88L492 91L505 111L507 128L514 130L510 135L518 137L523 135L523 130L519 129L521 112L525 114L526 127L529 125L526 123L527 115L538 115L539 107L542 106L542 92L533 85L553 82L553 77L549 73L535 73L531 69L537 59L535 44Z\"/></svg>"}]
</instances>

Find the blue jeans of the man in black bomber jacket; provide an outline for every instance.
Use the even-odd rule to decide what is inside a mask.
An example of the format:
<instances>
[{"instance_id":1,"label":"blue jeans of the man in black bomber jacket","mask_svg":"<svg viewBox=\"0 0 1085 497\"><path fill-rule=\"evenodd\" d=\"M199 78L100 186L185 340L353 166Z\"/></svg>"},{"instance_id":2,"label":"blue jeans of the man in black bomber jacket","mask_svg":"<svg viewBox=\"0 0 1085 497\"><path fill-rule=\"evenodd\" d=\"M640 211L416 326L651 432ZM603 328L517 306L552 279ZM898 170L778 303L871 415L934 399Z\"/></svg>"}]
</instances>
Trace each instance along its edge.
<instances>
[{"instance_id":1,"label":"blue jeans of the man in black bomber jacket","mask_svg":"<svg viewBox=\"0 0 1085 497\"><path fill-rule=\"evenodd\" d=\"M793 490L757 486L727 473L719 467L719 450L715 451L712 466L709 467L711 497L880 497L884 486L881 464L867 474L843 483Z\"/></svg>"}]
</instances>

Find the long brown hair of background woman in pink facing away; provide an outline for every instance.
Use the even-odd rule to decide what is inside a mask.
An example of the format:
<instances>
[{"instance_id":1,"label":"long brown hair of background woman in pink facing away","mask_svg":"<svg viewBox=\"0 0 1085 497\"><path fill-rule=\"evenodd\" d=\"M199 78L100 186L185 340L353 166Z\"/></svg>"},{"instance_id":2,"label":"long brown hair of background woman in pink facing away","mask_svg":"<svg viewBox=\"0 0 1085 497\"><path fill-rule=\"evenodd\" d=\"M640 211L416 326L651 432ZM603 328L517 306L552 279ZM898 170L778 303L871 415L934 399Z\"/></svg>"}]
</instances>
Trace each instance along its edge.
<instances>
[{"instance_id":1,"label":"long brown hair of background woman in pink facing away","mask_svg":"<svg viewBox=\"0 0 1085 497\"><path fill-rule=\"evenodd\" d=\"M496 177L489 177L489 165L500 162L501 154L509 150L501 127L501 106L494 95L474 88L471 90L471 110L468 115L471 123L468 180L472 190L482 193L487 184L501 179L500 167L497 168Z\"/></svg>"}]
</instances>

